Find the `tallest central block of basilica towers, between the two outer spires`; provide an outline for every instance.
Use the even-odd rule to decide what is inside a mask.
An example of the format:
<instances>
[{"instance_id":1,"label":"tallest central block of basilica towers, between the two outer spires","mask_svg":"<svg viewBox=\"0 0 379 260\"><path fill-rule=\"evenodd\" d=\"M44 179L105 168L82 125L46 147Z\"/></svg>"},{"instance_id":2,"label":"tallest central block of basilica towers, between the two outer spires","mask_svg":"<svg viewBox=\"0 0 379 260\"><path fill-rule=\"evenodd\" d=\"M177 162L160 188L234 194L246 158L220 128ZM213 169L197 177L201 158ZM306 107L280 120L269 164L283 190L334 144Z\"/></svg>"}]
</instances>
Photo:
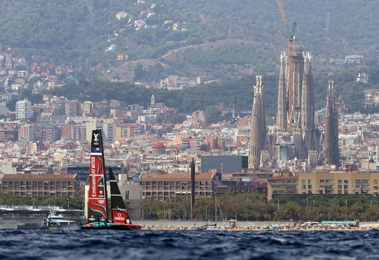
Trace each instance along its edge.
<instances>
[{"instance_id":1,"label":"tallest central block of basilica towers, between the two outer spires","mask_svg":"<svg viewBox=\"0 0 379 260\"><path fill-rule=\"evenodd\" d=\"M293 61L291 71L287 66L289 59ZM304 51L302 45L293 46L291 54L283 51L280 54L276 129L270 133L273 137L271 147L275 144L276 150L268 148L274 161L294 157L307 160L310 150L320 152L321 132L314 126L311 59L311 53ZM287 152L289 149L291 152Z\"/></svg>"}]
</instances>

